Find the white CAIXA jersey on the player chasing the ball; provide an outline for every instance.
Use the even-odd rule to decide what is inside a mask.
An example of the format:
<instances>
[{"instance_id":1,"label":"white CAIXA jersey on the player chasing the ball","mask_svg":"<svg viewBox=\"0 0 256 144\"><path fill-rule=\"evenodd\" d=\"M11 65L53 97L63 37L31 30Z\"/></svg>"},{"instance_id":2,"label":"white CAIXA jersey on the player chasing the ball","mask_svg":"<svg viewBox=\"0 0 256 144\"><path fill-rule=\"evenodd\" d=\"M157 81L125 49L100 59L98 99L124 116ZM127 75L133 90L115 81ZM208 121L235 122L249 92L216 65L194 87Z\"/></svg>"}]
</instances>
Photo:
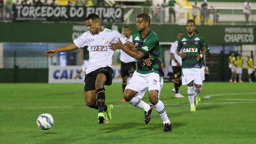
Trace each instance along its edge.
<instances>
[{"instance_id":1,"label":"white CAIXA jersey on the player chasing the ball","mask_svg":"<svg viewBox=\"0 0 256 144\"><path fill-rule=\"evenodd\" d=\"M118 38L122 44L128 41L118 31L105 28L104 31L99 32L99 35L93 35L90 31L86 31L73 41L78 48L88 45L89 65L86 69L86 74L106 66L111 67L114 51L108 46L110 43L118 42Z\"/></svg>"}]
</instances>

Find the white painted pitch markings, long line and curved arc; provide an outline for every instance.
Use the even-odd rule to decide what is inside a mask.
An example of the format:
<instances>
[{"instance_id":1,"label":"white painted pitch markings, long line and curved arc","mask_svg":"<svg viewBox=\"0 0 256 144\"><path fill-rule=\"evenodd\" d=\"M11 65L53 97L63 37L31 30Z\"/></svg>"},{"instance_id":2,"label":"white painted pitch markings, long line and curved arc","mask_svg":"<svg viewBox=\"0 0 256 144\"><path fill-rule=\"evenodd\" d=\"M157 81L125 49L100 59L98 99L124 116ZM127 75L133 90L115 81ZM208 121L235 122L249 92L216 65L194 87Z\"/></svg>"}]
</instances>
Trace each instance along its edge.
<instances>
[{"instance_id":1,"label":"white painted pitch markings, long line and curved arc","mask_svg":"<svg viewBox=\"0 0 256 144\"><path fill-rule=\"evenodd\" d=\"M243 95L252 95L256 93L243 93ZM212 96L223 96L223 95L241 95L241 93L233 93L233 94L218 94L218 95L209 95L209 96L204 96L205 99L216 99L216 98L211 98ZM256 103L256 100L252 99L219 99L219 100L241 100L241 101L249 101L249 102L224 102L224 103L199 103L201 104L234 104L234 103ZM165 106L183 106L183 105L189 105L188 104L164 104ZM125 105L115 105L115 107L124 107ZM132 105L128 105L132 106ZM87 106L53 106L53 107L4 107L0 108L1 110L12 110L12 109L59 109L59 108L75 108L75 107L86 107Z\"/></svg>"}]
</instances>

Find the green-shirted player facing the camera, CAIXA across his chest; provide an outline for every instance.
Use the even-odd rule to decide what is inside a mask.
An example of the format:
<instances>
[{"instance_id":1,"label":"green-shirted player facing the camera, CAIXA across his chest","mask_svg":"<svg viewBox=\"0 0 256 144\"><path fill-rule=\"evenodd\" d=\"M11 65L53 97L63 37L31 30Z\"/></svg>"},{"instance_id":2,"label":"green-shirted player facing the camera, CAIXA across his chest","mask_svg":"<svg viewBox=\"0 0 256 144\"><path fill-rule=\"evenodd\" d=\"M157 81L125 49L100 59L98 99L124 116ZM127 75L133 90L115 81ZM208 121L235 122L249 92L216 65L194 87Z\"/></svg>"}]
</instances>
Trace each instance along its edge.
<instances>
[{"instance_id":1,"label":"green-shirted player facing the camera, CAIXA across his chest","mask_svg":"<svg viewBox=\"0 0 256 144\"><path fill-rule=\"evenodd\" d=\"M206 53L204 38L196 34L196 24L194 20L187 21L187 35L178 39L177 54L182 58L182 85L188 85L188 99L190 102L190 111L195 112L196 106L194 98L199 95L202 87L201 61ZM180 50L182 53L180 53Z\"/></svg>"}]
</instances>

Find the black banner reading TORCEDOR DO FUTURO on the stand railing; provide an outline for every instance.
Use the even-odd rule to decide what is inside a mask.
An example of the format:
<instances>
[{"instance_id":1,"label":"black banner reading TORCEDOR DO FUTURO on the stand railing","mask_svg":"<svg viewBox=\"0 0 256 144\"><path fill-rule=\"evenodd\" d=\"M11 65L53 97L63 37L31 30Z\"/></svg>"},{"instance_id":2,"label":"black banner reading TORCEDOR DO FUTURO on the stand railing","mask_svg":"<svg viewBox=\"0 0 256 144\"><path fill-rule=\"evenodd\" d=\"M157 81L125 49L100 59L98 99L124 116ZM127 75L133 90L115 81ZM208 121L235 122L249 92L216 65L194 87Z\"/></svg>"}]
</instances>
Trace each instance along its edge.
<instances>
[{"instance_id":1,"label":"black banner reading TORCEDOR DO FUTURO on the stand railing","mask_svg":"<svg viewBox=\"0 0 256 144\"><path fill-rule=\"evenodd\" d=\"M105 23L124 21L124 9L116 7L14 5L14 21L85 21L96 13Z\"/></svg>"}]
</instances>

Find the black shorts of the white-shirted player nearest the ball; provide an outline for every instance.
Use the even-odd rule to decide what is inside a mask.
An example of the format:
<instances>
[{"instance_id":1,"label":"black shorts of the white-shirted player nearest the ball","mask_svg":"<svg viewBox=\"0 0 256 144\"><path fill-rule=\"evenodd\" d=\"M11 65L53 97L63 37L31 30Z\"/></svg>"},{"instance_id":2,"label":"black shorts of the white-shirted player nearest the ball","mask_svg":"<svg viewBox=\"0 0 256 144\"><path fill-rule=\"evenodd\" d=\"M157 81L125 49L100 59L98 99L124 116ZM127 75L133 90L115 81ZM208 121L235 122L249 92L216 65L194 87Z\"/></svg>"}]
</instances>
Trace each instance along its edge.
<instances>
[{"instance_id":1,"label":"black shorts of the white-shirted player nearest the ball","mask_svg":"<svg viewBox=\"0 0 256 144\"><path fill-rule=\"evenodd\" d=\"M106 76L106 83L105 85L110 86L112 84L113 80L113 69L109 66L104 68L96 69L95 71L92 71L85 75L85 92L89 90L95 90L95 82L96 78L99 73L104 73Z\"/></svg>"}]
</instances>

